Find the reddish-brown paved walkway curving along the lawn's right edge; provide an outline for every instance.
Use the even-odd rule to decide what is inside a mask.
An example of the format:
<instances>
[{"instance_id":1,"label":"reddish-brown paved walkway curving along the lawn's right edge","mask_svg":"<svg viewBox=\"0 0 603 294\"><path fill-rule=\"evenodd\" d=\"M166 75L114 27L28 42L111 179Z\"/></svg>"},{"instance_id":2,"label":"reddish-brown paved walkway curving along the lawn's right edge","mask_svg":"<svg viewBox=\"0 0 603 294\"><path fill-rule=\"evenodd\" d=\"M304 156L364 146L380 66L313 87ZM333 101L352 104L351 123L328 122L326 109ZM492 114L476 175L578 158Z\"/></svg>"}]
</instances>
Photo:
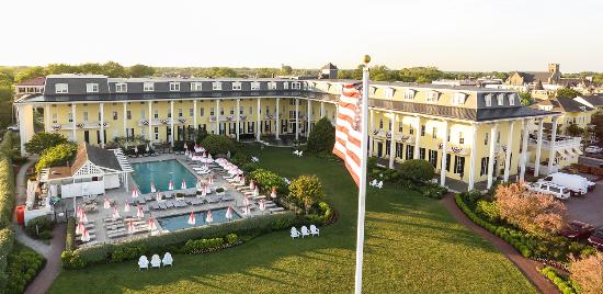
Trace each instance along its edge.
<instances>
[{"instance_id":1,"label":"reddish-brown paved walkway curving along the lawn's right edge","mask_svg":"<svg viewBox=\"0 0 603 294\"><path fill-rule=\"evenodd\" d=\"M481 238L490 241L494 247L497 247L509 260L511 260L536 286L536 289L541 293L559 293L559 290L557 286L555 286L553 283L550 283L542 273L537 271L537 268L542 268L543 264L539 262L536 262L532 259L524 258L521 256L515 248L513 248L511 245L505 242L504 240L500 239L499 237L492 235L490 231L486 230L485 228L474 224L465 213L458 208L456 205L454 194L448 193L443 201L444 207L458 220L458 223L463 224L464 226L470 228L475 233L477 233Z\"/></svg>"}]
</instances>

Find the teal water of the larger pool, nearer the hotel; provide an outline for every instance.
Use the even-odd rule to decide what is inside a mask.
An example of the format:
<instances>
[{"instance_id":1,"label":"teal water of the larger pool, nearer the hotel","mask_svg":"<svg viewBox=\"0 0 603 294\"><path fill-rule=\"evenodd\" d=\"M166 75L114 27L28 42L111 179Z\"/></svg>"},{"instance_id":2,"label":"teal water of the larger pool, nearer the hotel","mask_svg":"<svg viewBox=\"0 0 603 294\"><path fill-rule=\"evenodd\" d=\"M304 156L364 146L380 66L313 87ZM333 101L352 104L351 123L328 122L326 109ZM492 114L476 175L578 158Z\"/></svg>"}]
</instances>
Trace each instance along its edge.
<instances>
[{"instance_id":1,"label":"teal water of the larger pool, nearer the hotel","mask_svg":"<svg viewBox=\"0 0 603 294\"><path fill-rule=\"evenodd\" d=\"M155 183L160 191L168 191L170 180L172 180L175 191L180 190L182 179L186 181L186 188L194 188L197 181L195 174L175 159L132 163L132 168L134 169L132 177L143 194L150 193L151 183Z\"/></svg>"}]
</instances>

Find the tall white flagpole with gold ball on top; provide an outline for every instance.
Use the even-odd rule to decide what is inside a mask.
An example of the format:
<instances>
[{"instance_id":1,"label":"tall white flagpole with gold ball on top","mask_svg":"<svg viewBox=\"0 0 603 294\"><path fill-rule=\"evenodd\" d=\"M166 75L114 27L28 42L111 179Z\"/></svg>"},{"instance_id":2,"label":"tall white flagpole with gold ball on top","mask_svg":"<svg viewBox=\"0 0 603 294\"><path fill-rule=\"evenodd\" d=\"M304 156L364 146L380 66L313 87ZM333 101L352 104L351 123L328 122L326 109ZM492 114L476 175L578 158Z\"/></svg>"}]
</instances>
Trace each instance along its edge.
<instances>
[{"instance_id":1,"label":"tall white flagpole with gold ball on top","mask_svg":"<svg viewBox=\"0 0 603 294\"><path fill-rule=\"evenodd\" d=\"M364 56L364 67L362 69L362 139L361 139L361 173L359 185L359 219L356 236L356 275L354 283L354 293L362 293L362 263L364 251L364 217L366 200L366 160L368 152L368 63L371 57Z\"/></svg>"}]
</instances>

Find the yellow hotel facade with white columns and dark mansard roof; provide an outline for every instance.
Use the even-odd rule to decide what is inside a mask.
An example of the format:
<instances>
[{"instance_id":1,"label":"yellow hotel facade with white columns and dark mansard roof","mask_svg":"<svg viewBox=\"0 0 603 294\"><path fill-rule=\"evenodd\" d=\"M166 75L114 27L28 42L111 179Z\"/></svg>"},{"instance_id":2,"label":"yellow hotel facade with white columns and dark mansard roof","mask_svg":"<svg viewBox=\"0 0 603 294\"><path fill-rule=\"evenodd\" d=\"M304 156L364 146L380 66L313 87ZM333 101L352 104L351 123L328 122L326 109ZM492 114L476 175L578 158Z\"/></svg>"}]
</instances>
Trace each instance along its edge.
<instances>
[{"instance_id":1,"label":"yellow hotel facade with white columns and dark mansard roof","mask_svg":"<svg viewBox=\"0 0 603 294\"><path fill-rule=\"evenodd\" d=\"M355 81L54 75L43 93L15 106L22 144L34 134L34 110L43 113L45 132L101 147L133 136L173 145L193 128L237 140L298 139L321 117L334 122L348 82ZM372 82L369 105L369 155L389 168L428 160L442 185L486 189L496 179L523 180L526 168L543 174L578 160L579 142L557 136L560 113L525 108L514 91Z\"/></svg>"}]
</instances>

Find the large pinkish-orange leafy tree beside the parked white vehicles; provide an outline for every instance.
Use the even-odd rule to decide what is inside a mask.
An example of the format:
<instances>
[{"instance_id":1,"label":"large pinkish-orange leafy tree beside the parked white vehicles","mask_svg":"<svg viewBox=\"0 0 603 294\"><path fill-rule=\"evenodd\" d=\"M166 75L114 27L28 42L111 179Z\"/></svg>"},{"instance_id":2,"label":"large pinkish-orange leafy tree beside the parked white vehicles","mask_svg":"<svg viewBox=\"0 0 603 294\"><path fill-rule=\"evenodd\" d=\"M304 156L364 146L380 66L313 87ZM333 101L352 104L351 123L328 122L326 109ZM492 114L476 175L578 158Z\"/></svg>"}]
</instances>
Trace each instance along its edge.
<instances>
[{"instance_id":1,"label":"large pinkish-orange leafy tree beside the parked white vehicles","mask_svg":"<svg viewBox=\"0 0 603 294\"><path fill-rule=\"evenodd\" d=\"M500 184L496 202L502 219L543 238L550 237L567 224L564 203L553 195L530 192L521 183Z\"/></svg>"}]
</instances>

